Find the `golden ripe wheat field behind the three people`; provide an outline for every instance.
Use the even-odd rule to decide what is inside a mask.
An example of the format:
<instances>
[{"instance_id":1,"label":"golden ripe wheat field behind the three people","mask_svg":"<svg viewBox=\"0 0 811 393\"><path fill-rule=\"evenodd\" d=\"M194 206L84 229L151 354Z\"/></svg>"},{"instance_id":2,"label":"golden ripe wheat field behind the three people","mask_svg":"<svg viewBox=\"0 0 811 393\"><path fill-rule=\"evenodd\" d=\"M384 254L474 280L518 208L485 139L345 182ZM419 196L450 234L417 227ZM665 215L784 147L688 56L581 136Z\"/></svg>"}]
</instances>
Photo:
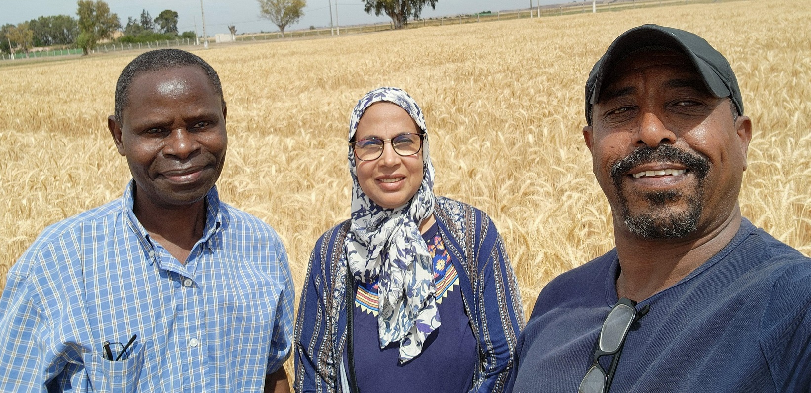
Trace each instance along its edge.
<instances>
[{"instance_id":1,"label":"golden ripe wheat field behind the three people","mask_svg":"<svg viewBox=\"0 0 811 393\"><path fill-rule=\"evenodd\" d=\"M297 290L315 238L349 216L345 137L364 92L405 88L427 113L436 193L496 221L525 309L612 247L582 142L583 85L614 37L685 28L732 62L753 118L741 207L811 254L811 2L768 0L416 28L198 50L220 72L230 135L222 198L277 229ZM0 68L0 288L46 225L129 180L105 127L134 53Z\"/></svg>"}]
</instances>

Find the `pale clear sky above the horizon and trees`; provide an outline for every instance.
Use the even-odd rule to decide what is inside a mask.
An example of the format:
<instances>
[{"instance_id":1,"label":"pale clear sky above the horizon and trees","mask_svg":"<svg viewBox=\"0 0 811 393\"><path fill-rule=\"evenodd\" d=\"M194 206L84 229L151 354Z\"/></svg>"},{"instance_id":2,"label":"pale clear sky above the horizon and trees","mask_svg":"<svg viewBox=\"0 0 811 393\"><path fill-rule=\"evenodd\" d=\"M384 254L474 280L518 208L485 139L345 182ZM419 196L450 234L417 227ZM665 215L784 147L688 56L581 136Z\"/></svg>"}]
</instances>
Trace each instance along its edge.
<instances>
[{"instance_id":1,"label":"pale clear sky above the horizon and trees","mask_svg":"<svg viewBox=\"0 0 811 393\"><path fill-rule=\"evenodd\" d=\"M531 0L533 6L566 2L566 0ZM11 4L9 4L11 3ZM71 15L76 18L76 2L71 0L13 0L6 3L0 12L0 25L20 23L44 15ZM203 35L203 23L200 18L200 0L107 0L110 11L118 14L122 25L127 24L127 17L138 18L142 10L149 12L152 19L164 10L178 11L178 30L194 31L195 22L200 36ZM218 32L228 32L228 25L234 23L237 33L275 32L276 25L259 16L259 2L256 0L216 1L203 0L206 32L213 36ZM423 9L424 17L440 15L474 14L481 11L508 11L526 9L530 0L439 0L436 11L431 7ZM333 14L336 0L333 0ZM375 16L363 12L361 0L337 0L337 19L341 25L359 23L388 23L388 16ZM307 0L304 17L288 30L329 26L329 0Z\"/></svg>"}]
</instances>

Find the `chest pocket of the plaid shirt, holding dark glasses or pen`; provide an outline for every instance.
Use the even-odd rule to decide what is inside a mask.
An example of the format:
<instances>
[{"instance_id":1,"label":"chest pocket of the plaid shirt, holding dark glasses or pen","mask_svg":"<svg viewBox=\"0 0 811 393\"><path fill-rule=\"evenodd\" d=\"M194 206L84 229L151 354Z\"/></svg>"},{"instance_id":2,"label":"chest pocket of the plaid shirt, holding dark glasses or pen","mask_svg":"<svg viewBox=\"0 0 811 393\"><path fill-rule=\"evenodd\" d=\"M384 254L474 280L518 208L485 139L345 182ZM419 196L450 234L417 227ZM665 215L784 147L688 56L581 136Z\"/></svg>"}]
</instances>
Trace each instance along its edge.
<instances>
[{"instance_id":1,"label":"chest pocket of the plaid shirt, holding dark glasses or pen","mask_svg":"<svg viewBox=\"0 0 811 393\"><path fill-rule=\"evenodd\" d=\"M85 370L94 391L129 393L137 391L144 371L144 345L133 345L127 360L109 361L101 353L86 354Z\"/></svg>"}]
</instances>

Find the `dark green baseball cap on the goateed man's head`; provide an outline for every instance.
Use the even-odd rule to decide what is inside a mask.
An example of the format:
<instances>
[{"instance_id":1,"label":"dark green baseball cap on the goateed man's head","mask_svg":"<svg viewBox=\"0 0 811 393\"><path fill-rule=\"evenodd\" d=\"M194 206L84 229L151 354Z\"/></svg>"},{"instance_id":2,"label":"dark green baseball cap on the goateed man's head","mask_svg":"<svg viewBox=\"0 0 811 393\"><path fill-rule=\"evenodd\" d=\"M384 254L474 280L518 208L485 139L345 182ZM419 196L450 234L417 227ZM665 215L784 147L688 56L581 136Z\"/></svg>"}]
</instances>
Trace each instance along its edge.
<instances>
[{"instance_id":1,"label":"dark green baseball cap on the goateed man's head","mask_svg":"<svg viewBox=\"0 0 811 393\"><path fill-rule=\"evenodd\" d=\"M710 43L692 32L678 28L643 24L616 37L591 69L586 82L586 122L589 126L591 107L599 100L600 88L608 71L630 53L640 49L672 49L684 53L693 62L707 90L718 98L729 97L738 109L738 114L744 114L744 101L740 97L738 79L732 72L732 66Z\"/></svg>"}]
</instances>

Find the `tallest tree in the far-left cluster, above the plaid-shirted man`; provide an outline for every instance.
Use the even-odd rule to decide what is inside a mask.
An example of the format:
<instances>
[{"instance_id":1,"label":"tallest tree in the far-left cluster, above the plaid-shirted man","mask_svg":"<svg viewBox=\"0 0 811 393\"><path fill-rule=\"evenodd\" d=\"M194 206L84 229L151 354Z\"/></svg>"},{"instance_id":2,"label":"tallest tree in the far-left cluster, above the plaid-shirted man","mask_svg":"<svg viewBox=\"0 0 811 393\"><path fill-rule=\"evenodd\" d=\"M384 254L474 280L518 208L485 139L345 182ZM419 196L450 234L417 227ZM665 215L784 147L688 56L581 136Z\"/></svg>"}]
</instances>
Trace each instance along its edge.
<instances>
[{"instance_id":1,"label":"tallest tree in the far-left cluster, above the plaid-shirted man","mask_svg":"<svg viewBox=\"0 0 811 393\"><path fill-rule=\"evenodd\" d=\"M98 41L113 38L113 32L121 28L121 21L118 15L109 12L109 6L102 0L79 0L76 5L76 15L79 15L76 44L84 49L84 54L89 54Z\"/></svg>"}]
</instances>

